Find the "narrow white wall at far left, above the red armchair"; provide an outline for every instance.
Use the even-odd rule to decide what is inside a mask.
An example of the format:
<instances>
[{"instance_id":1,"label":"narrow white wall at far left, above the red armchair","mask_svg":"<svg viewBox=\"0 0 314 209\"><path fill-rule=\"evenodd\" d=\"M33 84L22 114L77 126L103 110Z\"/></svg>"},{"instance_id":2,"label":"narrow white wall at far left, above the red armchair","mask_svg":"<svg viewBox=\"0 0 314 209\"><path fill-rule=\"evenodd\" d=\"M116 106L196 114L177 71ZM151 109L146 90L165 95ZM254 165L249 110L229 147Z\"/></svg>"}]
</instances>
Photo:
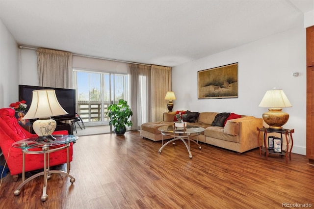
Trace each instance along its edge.
<instances>
[{"instance_id":1,"label":"narrow white wall at far left, above the red armchair","mask_svg":"<svg viewBox=\"0 0 314 209\"><path fill-rule=\"evenodd\" d=\"M18 101L18 46L0 19L0 108Z\"/></svg>"}]
</instances>

